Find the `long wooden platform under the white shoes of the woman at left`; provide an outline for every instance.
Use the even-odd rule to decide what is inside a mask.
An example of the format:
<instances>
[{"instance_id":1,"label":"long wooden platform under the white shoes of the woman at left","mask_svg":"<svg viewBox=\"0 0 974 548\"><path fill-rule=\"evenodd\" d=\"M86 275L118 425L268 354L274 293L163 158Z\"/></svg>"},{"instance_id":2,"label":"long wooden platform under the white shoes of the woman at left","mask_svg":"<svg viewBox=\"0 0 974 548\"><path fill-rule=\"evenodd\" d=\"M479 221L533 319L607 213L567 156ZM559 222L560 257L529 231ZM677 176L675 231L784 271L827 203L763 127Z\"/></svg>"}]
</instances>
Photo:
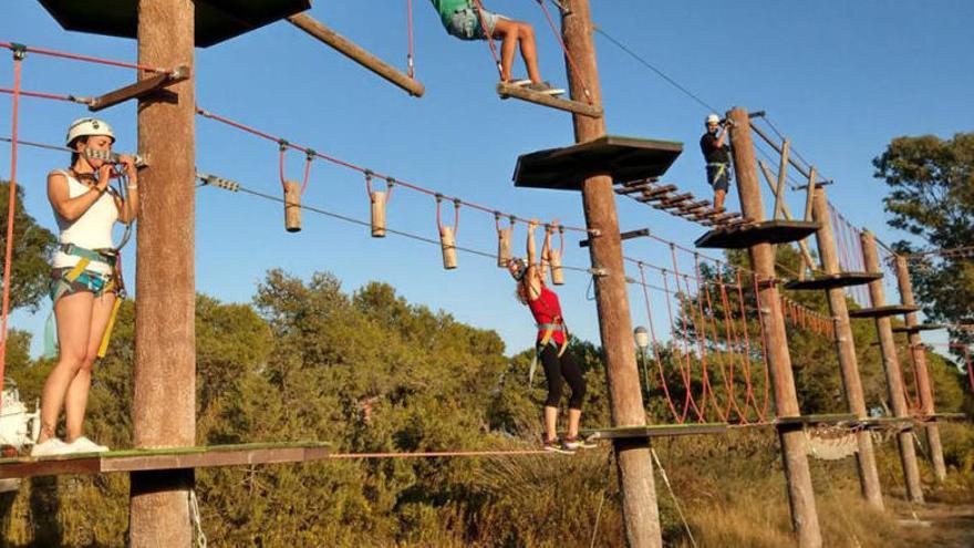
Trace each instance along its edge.
<instances>
[{"instance_id":1,"label":"long wooden platform under the white shoes of the woman at left","mask_svg":"<svg viewBox=\"0 0 974 548\"><path fill-rule=\"evenodd\" d=\"M61 474L102 474L108 472L303 463L328 458L329 454L331 454L331 445L328 443L298 442L172 447L165 449L124 449L108 453L80 453L39 458L0 458L0 479Z\"/></svg>"}]
</instances>

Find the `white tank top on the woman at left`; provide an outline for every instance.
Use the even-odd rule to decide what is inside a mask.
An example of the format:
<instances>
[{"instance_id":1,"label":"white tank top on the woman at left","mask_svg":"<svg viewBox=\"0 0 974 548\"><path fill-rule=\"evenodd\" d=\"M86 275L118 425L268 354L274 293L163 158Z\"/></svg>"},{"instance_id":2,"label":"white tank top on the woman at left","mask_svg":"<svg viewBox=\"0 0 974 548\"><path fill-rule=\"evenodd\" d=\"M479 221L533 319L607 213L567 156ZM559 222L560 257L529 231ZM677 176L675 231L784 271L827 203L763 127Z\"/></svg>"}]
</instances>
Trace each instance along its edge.
<instances>
[{"instance_id":1,"label":"white tank top on the woman at left","mask_svg":"<svg viewBox=\"0 0 974 548\"><path fill-rule=\"evenodd\" d=\"M68 196L70 198L76 198L90 189L68 172L55 169L53 173L61 174L68 179ZM112 196L111 192L102 194L81 217L74 220L65 219L54 209L54 218L58 220L58 228L61 229L59 238L61 244L74 244L85 249L112 247L112 227L118 220L118 208ZM77 256L68 255L59 249L54 254L52 266L54 268L73 267L79 260ZM92 261L87 269L100 273L112 273L112 268L104 262Z\"/></svg>"}]
</instances>

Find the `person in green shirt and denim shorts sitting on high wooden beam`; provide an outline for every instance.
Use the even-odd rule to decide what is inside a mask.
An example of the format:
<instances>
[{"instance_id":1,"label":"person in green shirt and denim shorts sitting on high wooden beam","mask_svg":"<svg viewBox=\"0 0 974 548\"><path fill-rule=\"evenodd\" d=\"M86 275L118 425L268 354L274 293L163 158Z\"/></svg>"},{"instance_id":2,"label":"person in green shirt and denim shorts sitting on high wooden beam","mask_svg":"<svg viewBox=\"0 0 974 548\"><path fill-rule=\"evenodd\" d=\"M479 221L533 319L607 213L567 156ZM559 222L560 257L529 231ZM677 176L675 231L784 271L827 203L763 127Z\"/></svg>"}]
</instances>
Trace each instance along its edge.
<instances>
[{"instance_id":1,"label":"person in green shirt and denim shorts sitting on high wooden beam","mask_svg":"<svg viewBox=\"0 0 974 548\"><path fill-rule=\"evenodd\" d=\"M524 86L527 90L546 95L561 95L564 90L551 87L541 80L538 70L538 48L535 43L535 29L524 21L515 21L504 15L480 9L477 0L431 0L439 12L439 19L446 31L460 40L487 40L487 27L490 38L500 40L500 80L506 83ZM528 80L511 80L514 52L520 46Z\"/></svg>"}]
</instances>

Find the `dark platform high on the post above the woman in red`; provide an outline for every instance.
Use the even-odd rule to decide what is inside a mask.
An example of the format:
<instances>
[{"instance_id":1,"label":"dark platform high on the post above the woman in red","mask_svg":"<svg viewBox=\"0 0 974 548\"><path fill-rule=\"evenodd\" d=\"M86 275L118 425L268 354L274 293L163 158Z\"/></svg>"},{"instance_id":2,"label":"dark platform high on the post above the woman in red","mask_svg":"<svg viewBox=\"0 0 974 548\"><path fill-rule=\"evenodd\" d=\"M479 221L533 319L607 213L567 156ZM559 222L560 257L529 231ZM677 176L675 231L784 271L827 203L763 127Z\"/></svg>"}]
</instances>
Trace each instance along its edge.
<instances>
[{"instance_id":1,"label":"dark platform high on the post above the woman in red","mask_svg":"<svg viewBox=\"0 0 974 548\"><path fill-rule=\"evenodd\" d=\"M682 143L607 135L561 148L548 148L518 157L515 186L581 190L584 179L609 175L615 182L659 177L666 173Z\"/></svg>"}]
</instances>

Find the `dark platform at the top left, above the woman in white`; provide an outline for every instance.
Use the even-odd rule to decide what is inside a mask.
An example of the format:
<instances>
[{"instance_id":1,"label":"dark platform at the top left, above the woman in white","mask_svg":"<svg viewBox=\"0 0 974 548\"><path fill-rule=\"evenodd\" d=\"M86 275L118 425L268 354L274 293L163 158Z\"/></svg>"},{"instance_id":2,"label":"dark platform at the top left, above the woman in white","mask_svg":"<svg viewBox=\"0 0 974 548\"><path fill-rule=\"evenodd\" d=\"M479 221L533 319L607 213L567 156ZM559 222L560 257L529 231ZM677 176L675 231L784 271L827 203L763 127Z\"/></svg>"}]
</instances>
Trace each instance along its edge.
<instances>
[{"instance_id":1,"label":"dark platform at the top left, above the woman in white","mask_svg":"<svg viewBox=\"0 0 974 548\"><path fill-rule=\"evenodd\" d=\"M311 9L310 0L195 0L196 45L206 48ZM64 30L136 38L136 0L41 0Z\"/></svg>"}]
</instances>

